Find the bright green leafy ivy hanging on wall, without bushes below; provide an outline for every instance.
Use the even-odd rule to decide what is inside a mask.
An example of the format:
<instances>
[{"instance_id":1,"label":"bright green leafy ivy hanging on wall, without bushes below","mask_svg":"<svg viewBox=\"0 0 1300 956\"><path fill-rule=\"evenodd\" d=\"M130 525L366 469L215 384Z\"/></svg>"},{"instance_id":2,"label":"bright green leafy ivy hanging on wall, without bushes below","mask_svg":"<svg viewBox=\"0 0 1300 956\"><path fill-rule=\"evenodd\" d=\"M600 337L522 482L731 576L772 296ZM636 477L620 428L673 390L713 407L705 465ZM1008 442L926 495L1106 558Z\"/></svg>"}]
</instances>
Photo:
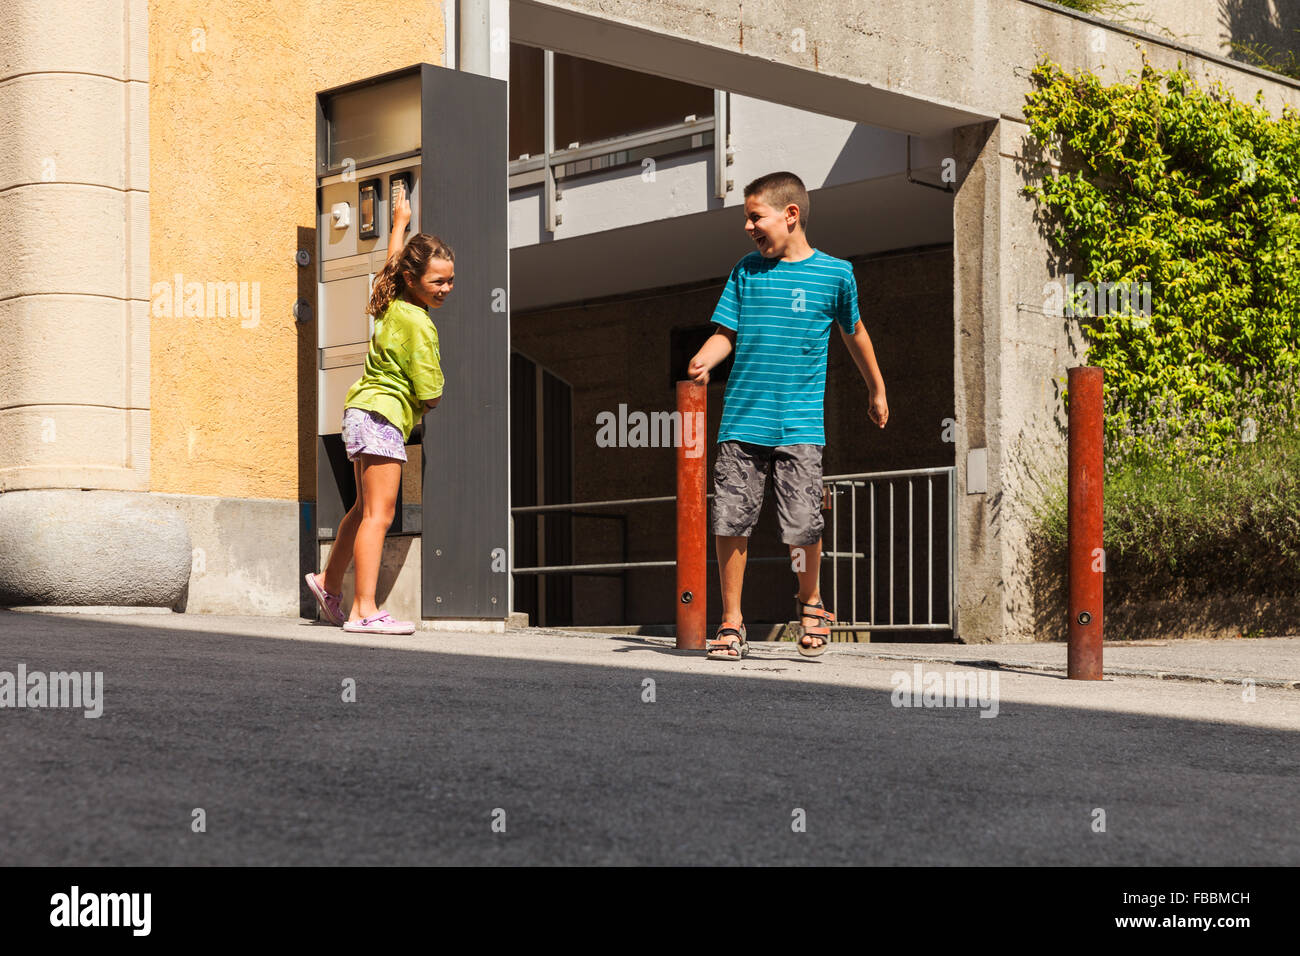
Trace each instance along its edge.
<instances>
[{"instance_id":1,"label":"bright green leafy ivy hanging on wall, without bushes below","mask_svg":"<svg viewBox=\"0 0 1300 956\"><path fill-rule=\"evenodd\" d=\"M1032 77L1041 155L1024 190L1049 239L1078 282L1149 284L1150 315L1069 303L1105 371L1108 454L1210 466L1243 431L1284 431L1300 364L1300 113L1273 118L1145 61L1134 85L1049 61Z\"/></svg>"}]
</instances>

